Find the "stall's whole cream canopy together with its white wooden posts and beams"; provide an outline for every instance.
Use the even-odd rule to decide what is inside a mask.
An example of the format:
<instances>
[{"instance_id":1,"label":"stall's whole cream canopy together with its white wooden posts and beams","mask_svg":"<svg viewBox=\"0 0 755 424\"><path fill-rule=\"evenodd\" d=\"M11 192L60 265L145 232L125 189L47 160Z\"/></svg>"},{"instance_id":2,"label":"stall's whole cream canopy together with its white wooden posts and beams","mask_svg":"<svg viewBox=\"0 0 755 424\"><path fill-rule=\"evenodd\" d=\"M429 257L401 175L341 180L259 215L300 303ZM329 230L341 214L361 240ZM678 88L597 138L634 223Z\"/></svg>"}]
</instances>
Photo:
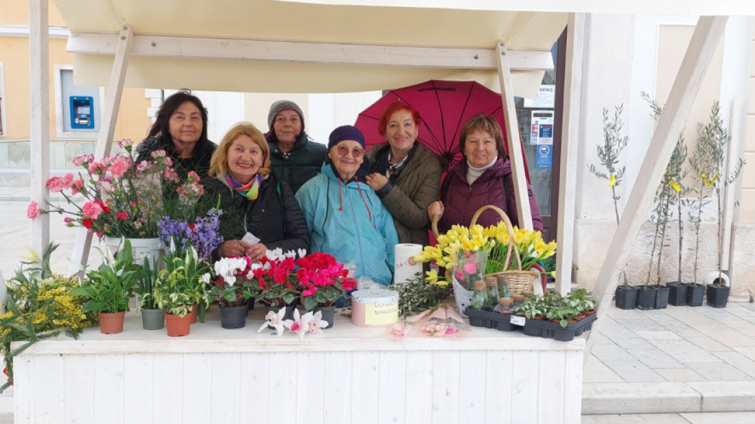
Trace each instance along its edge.
<instances>
[{"instance_id":1,"label":"stall's whole cream canopy together with its white wooden posts and beams","mask_svg":"<svg viewBox=\"0 0 755 424\"><path fill-rule=\"evenodd\" d=\"M32 199L49 198L47 0L29 1ZM584 13L702 15L600 272L594 295L606 314L616 281L652 202L710 57L741 0L56 0L72 35L77 84L109 86L96 155L109 152L125 85L210 91L341 92L396 88L430 78L475 79L504 102L516 196L526 197L515 94L531 97L547 53L568 26L564 84L557 288L569 290L580 137ZM565 13L570 12L570 13ZM516 53L519 52L519 53ZM128 69L128 74L127 74ZM495 78L495 79L494 79ZM606 78L610 78L608 75ZM528 201L519 217L530 222ZM49 221L32 224L42 251ZM86 262L82 229L74 260ZM87 247L86 249L84 247ZM593 324L587 355L602 320Z\"/></svg>"}]
</instances>

